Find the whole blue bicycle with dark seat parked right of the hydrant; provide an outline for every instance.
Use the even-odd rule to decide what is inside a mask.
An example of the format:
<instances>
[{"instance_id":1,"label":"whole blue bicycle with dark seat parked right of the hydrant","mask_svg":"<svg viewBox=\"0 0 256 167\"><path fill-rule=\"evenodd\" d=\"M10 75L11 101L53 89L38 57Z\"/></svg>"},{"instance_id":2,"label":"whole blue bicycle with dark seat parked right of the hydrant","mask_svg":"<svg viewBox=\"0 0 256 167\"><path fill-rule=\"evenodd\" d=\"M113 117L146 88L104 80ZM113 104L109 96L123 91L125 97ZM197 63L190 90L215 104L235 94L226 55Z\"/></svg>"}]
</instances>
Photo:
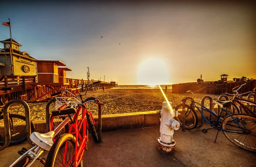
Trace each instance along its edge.
<instances>
[{"instance_id":1,"label":"whole blue bicycle with dark seat parked right of the hydrant","mask_svg":"<svg viewBox=\"0 0 256 167\"><path fill-rule=\"evenodd\" d=\"M229 141L236 144L245 150L256 152L256 116L250 114L233 113L227 110L232 105L232 101L215 101L215 104L221 106L221 111L217 115L207 107L203 106L194 101L194 94L192 91L187 91L186 94L192 94L193 97L185 97L183 101L189 99L190 105L186 106L185 112L185 127L186 129L193 129L198 125L198 119L195 119L194 107L198 109L202 117L208 124L211 125L208 129L203 129L204 133L207 133L209 129L215 129L222 131ZM224 109L226 108L226 109ZM213 119L208 121L204 116L203 110L207 111L212 115ZM221 114L225 112L226 117L221 119ZM192 115L192 116L191 116ZM181 118L179 119L180 123ZM218 136L218 132L215 138L215 142Z\"/></svg>"}]
</instances>

